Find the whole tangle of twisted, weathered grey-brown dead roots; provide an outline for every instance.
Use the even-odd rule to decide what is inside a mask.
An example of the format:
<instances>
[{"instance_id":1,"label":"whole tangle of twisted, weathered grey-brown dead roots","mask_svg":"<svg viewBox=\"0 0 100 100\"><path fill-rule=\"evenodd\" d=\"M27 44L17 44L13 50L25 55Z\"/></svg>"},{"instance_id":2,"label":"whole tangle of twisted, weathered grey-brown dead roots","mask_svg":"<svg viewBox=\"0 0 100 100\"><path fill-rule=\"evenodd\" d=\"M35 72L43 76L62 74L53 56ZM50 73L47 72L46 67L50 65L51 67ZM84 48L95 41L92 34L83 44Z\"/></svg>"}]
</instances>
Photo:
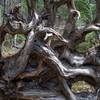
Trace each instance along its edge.
<instances>
[{"instance_id":1,"label":"whole tangle of twisted, weathered grey-brown dead roots","mask_svg":"<svg viewBox=\"0 0 100 100\"><path fill-rule=\"evenodd\" d=\"M84 40L88 32L99 29L99 0L96 0L95 20L80 29L76 28L79 11L76 10L74 0L44 0L43 15L40 16L36 12L36 2L37 0L26 0L27 21L20 16L20 6L17 5L12 12L6 14L6 23L0 26L0 90L9 97L15 94L24 95L25 93L19 91L26 88L25 80L32 80L34 81L32 84L36 82L35 86L38 84L42 87L43 84L55 80L54 84L58 83L56 92L61 91L66 100L77 100L71 91L69 80L70 82L84 80L100 88L100 45L85 55L74 51L74 46ZM66 39L53 29L57 9L63 4L67 4L69 11L64 30ZM44 20L47 20L45 25L42 24ZM17 54L3 58L1 45L6 33L24 34L27 39ZM58 41L58 44L52 46L54 41ZM36 64L36 68L33 63ZM22 98L27 99L27 96ZM29 99L32 99L32 96Z\"/></svg>"}]
</instances>

